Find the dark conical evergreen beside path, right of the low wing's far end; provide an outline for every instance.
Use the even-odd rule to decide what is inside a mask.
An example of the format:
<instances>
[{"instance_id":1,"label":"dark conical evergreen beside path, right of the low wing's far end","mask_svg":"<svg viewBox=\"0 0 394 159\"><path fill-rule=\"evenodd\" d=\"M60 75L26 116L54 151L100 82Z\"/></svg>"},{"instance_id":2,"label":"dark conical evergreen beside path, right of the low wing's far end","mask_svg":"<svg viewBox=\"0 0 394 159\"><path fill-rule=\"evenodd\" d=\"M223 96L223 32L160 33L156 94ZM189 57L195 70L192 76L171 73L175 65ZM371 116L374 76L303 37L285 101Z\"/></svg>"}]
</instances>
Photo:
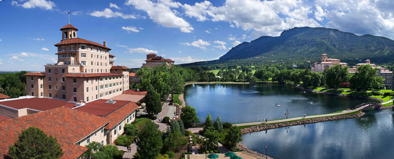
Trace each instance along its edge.
<instances>
[{"instance_id":1,"label":"dark conical evergreen beside path, right of the low wing's far end","mask_svg":"<svg viewBox=\"0 0 394 159\"><path fill-rule=\"evenodd\" d=\"M153 115L162 111L162 103L160 101L160 95L149 86L148 93L145 96L146 111L153 117Z\"/></svg>"}]
</instances>

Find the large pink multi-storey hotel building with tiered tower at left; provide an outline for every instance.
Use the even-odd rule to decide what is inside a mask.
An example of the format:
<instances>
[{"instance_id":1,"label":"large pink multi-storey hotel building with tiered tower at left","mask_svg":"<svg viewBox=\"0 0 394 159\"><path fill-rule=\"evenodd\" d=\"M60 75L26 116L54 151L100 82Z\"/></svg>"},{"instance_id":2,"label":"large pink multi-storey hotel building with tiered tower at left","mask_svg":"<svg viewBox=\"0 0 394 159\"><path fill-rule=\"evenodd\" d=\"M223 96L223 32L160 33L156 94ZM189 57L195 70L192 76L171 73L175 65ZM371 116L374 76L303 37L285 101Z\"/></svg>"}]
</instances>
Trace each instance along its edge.
<instances>
[{"instance_id":1,"label":"large pink multi-storey hotel building with tiered tower at left","mask_svg":"<svg viewBox=\"0 0 394 159\"><path fill-rule=\"evenodd\" d=\"M58 62L44 65L44 72L25 74L27 95L89 102L129 89L129 68L114 66L105 41L101 45L78 38L78 28L70 24L60 30Z\"/></svg>"}]
</instances>

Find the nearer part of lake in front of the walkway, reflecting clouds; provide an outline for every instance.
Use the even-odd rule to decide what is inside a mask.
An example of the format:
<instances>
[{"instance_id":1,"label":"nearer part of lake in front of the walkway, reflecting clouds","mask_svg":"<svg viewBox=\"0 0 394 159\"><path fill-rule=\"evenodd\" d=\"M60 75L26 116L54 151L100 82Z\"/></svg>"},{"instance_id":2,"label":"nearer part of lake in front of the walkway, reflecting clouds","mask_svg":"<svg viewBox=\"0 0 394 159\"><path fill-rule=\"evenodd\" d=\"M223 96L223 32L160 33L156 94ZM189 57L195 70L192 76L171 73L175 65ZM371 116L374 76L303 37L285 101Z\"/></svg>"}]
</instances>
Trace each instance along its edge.
<instances>
[{"instance_id":1,"label":"nearer part of lake in front of the walkway, reflecting clouds","mask_svg":"<svg viewBox=\"0 0 394 159\"><path fill-rule=\"evenodd\" d=\"M248 148L278 159L393 159L394 111L242 135Z\"/></svg>"}]
</instances>

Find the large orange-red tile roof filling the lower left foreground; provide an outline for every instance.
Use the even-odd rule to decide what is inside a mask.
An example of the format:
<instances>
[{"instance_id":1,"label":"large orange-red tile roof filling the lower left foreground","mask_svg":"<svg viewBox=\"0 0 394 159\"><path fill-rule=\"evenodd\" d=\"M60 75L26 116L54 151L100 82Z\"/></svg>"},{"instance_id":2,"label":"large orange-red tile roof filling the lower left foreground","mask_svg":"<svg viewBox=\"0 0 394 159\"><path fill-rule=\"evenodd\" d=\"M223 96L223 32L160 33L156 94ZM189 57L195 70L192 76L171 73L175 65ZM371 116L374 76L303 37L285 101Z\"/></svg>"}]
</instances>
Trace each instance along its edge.
<instances>
[{"instance_id":1,"label":"large orange-red tile roof filling the lower left foreground","mask_svg":"<svg viewBox=\"0 0 394 159\"><path fill-rule=\"evenodd\" d=\"M109 121L109 119L64 106L1 121L0 158L8 153L8 146L17 140L18 133L29 127L35 127L48 135L55 136L60 141L65 154L62 159L76 159L87 149L71 144L84 139Z\"/></svg>"}]
</instances>

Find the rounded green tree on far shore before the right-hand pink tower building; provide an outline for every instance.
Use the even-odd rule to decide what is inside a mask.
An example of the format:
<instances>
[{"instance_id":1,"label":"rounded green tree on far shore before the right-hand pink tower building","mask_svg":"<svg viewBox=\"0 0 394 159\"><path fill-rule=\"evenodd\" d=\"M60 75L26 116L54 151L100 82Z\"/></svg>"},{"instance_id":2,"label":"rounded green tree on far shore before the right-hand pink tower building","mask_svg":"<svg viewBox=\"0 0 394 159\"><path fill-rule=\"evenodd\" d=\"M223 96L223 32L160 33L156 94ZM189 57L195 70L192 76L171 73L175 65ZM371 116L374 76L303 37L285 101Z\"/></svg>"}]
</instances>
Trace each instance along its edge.
<instances>
[{"instance_id":1,"label":"rounded green tree on far shore before the right-hand pink tower building","mask_svg":"<svg viewBox=\"0 0 394 159\"><path fill-rule=\"evenodd\" d=\"M346 67L334 65L325 71L326 84L328 88L337 89L343 82L348 81L349 72Z\"/></svg>"}]
</instances>

